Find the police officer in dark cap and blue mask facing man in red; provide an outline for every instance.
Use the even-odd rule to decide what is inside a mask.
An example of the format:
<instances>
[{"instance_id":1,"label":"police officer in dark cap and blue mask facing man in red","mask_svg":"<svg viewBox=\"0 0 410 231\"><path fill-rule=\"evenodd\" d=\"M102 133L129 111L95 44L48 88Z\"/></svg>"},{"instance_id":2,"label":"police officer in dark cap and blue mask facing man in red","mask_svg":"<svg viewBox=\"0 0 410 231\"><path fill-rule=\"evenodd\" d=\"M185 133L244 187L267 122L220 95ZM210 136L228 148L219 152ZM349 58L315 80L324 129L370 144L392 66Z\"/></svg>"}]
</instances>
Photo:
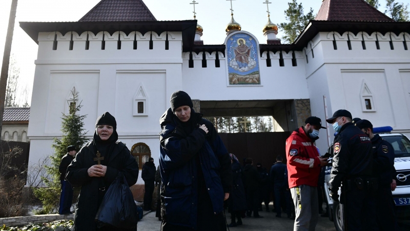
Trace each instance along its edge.
<instances>
[{"instance_id":1,"label":"police officer in dark cap and blue mask facing man in red","mask_svg":"<svg viewBox=\"0 0 410 231\"><path fill-rule=\"evenodd\" d=\"M347 230L378 230L376 204L372 194L377 182L372 178L372 141L352 123L352 114L337 110L326 120L336 132L331 170L330 196L338 201L342 186L341 204L344 205Z\"/></svg>"}]
</instances>

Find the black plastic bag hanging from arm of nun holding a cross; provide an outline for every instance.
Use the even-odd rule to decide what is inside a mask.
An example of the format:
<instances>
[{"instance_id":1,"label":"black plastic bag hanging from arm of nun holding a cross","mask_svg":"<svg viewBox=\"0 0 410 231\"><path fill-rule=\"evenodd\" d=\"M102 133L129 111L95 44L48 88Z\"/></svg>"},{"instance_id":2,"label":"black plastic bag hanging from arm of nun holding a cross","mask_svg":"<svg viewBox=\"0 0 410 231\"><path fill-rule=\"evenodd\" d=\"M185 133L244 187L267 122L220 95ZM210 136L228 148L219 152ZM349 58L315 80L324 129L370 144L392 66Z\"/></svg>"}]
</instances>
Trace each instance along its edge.
<instances>
[{"instance_id":1,"label":"black plastic bag hanging from arm of nun holding a cross","mask_svg":"<svg viewBox=\"0 0 410 231\"><path fill-rule=\"evenodd\" d=\"M122 172L108 188L95 215L95 222L99 228L112 225L119 229L137 229L137 205Z\"/></svg>"}]
</instances>

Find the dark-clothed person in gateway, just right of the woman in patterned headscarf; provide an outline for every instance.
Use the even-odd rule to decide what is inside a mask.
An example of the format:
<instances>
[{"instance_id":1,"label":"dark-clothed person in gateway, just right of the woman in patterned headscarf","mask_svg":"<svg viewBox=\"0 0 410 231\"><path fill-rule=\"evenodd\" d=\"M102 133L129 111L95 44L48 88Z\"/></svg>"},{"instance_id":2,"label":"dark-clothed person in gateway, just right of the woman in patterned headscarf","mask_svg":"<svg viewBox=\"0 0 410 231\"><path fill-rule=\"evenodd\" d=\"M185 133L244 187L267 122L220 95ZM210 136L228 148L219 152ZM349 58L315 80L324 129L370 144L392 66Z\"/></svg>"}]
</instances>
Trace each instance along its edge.
<instances>
[{"instance_id":1,"label":"dark-clothed person in gateway, just right of the woman in patterned headscarf","mask_svg":"<svg viewBox=\"0 0 410 231\"><path fill-rule=\"evenodd\" d=\"M258 170L255 166L252 166L252 158L248 158L245 161L246 165L243 168L243 179L245 185L245 192L247 197L247 216L250 217L253 211L254 218L262 218L259 216L258 204L259 204L259 187L262 183L262 179L258 174Z\"/></svg>"}]
</instances>

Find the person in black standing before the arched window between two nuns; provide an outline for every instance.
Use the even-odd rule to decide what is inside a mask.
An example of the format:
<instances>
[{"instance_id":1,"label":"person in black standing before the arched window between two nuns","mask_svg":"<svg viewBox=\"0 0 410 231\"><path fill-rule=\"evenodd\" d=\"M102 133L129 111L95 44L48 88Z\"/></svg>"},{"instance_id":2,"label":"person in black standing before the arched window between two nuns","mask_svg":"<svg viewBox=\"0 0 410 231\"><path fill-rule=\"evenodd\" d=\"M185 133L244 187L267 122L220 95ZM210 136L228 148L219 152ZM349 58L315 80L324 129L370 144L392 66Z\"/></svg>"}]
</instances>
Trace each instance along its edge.
<instances>
[{"instance_id":1,"label":"person in black standing before the arched window between two nuns","mask_svg":"<svg viewBox=\"0 0 410 231\"><path fill-rule=\"evenodd\" d=\"M144 210L152 210L152 195L155 188L155 164L154 158L148 159L142 166L141 177L145 182L145 194L144 194Z\"/></svg>"}]
</instances>

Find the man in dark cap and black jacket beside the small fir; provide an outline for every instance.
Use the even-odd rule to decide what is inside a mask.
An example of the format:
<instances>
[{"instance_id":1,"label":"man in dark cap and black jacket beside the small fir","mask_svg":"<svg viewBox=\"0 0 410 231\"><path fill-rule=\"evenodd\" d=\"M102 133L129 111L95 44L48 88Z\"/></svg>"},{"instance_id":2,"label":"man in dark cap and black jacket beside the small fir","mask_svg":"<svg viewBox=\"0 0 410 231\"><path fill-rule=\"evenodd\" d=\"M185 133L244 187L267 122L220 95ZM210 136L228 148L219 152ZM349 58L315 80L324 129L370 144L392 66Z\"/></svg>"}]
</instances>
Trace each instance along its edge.
<instances>
[{"instance_id":1,"label":"man in dark cap and black jacket beside the small fir","mask_svg":"<svg viewBox=\"0 0 410 231\"><path fill-rule=\"evenodd\" d=\"M68 181L65 180L68 165L74 159L77 151L75 146L71 145L67 147L67 154L61 158L60 166L58 171L60 172L60 183L61 183L61 194L60 194L60 207L58 209L58 214L72 214L70 210L71 204L73 202L73 187Z\"/></svg>"}]
</instances>

